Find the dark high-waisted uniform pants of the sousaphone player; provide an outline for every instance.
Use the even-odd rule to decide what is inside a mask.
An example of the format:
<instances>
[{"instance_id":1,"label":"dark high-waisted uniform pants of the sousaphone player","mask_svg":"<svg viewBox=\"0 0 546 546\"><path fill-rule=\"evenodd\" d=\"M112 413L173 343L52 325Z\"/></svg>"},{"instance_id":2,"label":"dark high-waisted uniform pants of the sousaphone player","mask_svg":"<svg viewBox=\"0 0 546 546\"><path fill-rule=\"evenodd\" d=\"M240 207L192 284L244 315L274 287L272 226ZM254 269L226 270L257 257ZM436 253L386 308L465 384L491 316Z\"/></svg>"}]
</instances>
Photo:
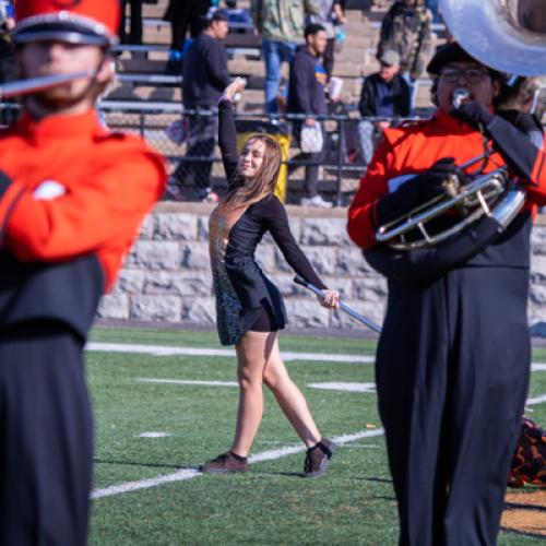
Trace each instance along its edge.
<instances>
[{"instance_id":1,"label":"dark high-waisted uniform pants of the sousaphone player","mask_svg":"<svg viewBox=\"0 0 546 546\"><path fill-rule=\"evenodd\" d=\"M495 545L530 377L529 271L389 285L379 411L400 544Z\"/></svg>"}]
</instances>

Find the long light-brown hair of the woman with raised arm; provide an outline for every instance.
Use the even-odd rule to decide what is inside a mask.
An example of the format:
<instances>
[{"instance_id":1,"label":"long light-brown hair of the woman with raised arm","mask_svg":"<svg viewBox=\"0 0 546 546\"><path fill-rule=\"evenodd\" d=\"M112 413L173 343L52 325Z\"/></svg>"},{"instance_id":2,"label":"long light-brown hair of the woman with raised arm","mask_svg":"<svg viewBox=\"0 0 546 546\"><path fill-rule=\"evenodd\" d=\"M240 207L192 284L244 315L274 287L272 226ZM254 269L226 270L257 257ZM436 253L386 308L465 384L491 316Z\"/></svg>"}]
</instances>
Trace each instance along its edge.
<instances>
[{"instance_id":1,"label":"long light-brown hair of the woman with raised arm","mask_svg":"<svg viewBox=\"0 0 546 546\"><path fill-rule=\"evenodd\" d=\"M235 180L232 183L233 189L222 200L222 204L228 209L250 206L275 191L282 162L281 146L269 134L263 133L252 134L245 142L245 146L253 141L264 144L262 166L253 178L245 178L237 166Z\"/></svg>"}]
</instances>

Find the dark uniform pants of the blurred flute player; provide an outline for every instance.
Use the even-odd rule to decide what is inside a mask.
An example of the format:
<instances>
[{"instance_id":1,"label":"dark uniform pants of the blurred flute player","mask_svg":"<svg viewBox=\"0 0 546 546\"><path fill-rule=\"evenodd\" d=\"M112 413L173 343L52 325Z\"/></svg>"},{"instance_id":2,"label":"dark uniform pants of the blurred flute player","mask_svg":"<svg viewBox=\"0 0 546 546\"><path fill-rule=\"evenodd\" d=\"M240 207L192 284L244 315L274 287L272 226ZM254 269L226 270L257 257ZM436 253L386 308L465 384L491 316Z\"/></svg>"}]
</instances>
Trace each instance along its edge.
<instances>
[{"instance_id":1,"label":"dark uniform pants of the blurred flute player","mask_svg":"<svg viewBox=\"0 0 546 546\"><path fill-rule=\"evenodd\" d=\"M0 544L86 544L93 438L82 343L36 321L0 334Z\"/></svg>"}]
</instances>

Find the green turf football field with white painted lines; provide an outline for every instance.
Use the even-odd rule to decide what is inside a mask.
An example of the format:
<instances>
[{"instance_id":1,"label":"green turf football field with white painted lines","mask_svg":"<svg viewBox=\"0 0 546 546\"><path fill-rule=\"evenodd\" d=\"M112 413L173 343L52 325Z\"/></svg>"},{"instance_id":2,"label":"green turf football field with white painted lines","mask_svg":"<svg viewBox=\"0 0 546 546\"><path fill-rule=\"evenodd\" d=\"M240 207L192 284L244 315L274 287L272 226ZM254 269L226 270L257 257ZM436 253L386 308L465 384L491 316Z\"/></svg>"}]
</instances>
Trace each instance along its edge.
<instances>
[{"instance_id":1,"label":"green turf football field with white painted lines","mask_svg":"<svg viewBox=\"0 0 546 546\"><path fill-rule=\"evenodd\" d=\"M375 342L282 335L281 351L321 432L341 446L318 479L301 477L305 449L269 392L249 472L198 472L229 448L238 401L235 356L215 334L94 330L91 545L396 544ZM533 361L526 415L545 425L546 351ZM499 544L543 544L543 491L514 491Z\"/></svg>"}]
</instances>

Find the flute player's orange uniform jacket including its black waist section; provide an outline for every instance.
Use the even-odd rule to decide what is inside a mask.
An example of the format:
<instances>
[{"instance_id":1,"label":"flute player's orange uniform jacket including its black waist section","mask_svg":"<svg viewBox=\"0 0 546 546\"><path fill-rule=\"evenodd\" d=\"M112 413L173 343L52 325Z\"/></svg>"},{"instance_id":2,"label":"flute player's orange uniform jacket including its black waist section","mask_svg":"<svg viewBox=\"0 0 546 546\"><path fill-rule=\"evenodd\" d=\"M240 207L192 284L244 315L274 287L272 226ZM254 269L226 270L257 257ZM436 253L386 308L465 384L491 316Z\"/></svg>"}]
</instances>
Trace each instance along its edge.
<instances>
[{"instance_id":1,"label":"flute player's orange uniform jacket including its black waist section","mask_svg":"<svg viewBox=\"0 0 546 546\"><path fill-rule=\"evenodd\" d=\"M95 111L0 132L0 327L67 322L85 336L100 295L162 195L165 166Z\"/></svg>"}]
</instances>

